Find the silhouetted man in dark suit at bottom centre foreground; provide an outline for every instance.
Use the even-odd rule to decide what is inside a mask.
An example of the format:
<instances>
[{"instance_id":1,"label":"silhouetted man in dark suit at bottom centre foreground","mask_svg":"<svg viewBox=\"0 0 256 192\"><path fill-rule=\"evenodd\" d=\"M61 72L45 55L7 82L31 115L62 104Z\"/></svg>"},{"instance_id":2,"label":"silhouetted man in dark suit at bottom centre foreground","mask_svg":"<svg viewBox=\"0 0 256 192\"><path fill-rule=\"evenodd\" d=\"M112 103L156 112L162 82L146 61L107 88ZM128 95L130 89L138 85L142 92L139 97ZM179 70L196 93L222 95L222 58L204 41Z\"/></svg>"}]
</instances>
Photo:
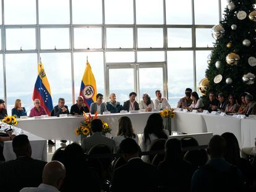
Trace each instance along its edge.
<instances>
[{"instance_id":1,"label":"silhouetted man in dark suit at bottom centre foreground","mask_svg":"<svg viewBox=\"0 0 256 192\"><path fill-rule=\"evenodd\" d=\"M136 141L132 138L122 140L120 149L127 164L114 170L113 192L156 191L158 188L156 167L140 159Z\"/></svg>"}]
</instances>

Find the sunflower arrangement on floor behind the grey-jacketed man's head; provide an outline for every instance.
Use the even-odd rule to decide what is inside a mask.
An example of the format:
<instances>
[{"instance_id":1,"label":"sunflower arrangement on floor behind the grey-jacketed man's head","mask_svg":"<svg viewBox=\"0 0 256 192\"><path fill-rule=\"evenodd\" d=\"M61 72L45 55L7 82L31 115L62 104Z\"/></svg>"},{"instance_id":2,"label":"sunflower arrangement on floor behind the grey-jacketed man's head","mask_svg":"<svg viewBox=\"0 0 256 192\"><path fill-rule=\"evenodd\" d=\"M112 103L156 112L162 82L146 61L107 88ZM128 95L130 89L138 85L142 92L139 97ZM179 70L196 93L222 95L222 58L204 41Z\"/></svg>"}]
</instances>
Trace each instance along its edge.
<instances>
[{"instance_id":1,"label":"sunflower arrangement on floor behind the grey-jacketed man's head","mask_svg":"<svg viewBox=\"0 0 256 192\"><path fill-rule=\"evenodd\" d=\"M95 113L95 116L87 115L85 112L83 113L83 117L85 117L85 120L80 123L79 128L75 129L75 135L90 135L91 132L91 123L93 119L98 119L98 112ZM105 135L106 133L111 133L111 128L109 127L108 123L101 120L103 123L103 130L102 133Z\"/></svg>"}]
</instances>

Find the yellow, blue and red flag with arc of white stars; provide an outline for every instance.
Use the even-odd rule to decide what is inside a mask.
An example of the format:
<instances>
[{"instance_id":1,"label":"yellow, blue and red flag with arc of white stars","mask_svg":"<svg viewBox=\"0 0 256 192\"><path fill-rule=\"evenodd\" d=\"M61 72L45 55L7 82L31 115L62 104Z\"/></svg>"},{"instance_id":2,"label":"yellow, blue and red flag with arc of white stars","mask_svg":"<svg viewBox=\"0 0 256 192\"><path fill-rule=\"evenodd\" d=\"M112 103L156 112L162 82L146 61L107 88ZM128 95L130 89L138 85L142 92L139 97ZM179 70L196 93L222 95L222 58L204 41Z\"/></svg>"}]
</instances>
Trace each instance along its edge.
<instances>
[{"instance_id":1,"label":"yellow, blue and red flag with arc of white stars","mask_svg":"<svg viewBox=\"0 0 256 192\"><path fill-rule=\"evenodd\" d=\"M32 99L39 99L41 102L41 106L45 108L47 114L51 114L51 111L53 110L51 89L45 74L45 69L43 68L43 64L41 63L41 61L40 64L38 64L38 76L36 78Z\"/></svg>"}]
</instances>

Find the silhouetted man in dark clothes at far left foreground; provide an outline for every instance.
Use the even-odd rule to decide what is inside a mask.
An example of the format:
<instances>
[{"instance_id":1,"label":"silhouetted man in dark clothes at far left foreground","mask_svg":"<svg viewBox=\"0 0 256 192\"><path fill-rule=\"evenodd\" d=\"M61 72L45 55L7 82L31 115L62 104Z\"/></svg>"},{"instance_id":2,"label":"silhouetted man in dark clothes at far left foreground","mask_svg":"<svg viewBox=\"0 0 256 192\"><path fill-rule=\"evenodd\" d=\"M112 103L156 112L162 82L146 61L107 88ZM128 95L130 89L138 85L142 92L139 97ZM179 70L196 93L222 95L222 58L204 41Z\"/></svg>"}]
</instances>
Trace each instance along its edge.
<instances>
[{"instance_id":1,"label":"silhouetted man in dark clothes at far left foreground","mask_svg":"<svg viewBox=\"0 0 256 192\"><path fill-rule=\"evenodd\" d=\"M0 164L1 191L20 191L24 187L36 187L42 182L46 162L32 159L32 149L27 135L15 136L12 149L17 159Z\"/></svg>"}]
</instances>

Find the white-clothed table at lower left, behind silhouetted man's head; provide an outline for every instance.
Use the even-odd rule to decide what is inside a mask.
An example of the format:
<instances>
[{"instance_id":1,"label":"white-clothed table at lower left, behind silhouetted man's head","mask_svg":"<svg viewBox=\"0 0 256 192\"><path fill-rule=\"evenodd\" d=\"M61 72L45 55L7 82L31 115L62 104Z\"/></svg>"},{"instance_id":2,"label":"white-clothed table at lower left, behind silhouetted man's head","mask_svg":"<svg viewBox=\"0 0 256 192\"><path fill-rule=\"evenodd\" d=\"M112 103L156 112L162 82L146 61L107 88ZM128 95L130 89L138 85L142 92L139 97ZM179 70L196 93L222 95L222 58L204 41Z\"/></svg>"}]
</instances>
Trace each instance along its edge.
<instances>
[{"instance_id":1,"label":"white-clothed table at lower left, behind silhouetted man's head","mask_svg":"<svg viewBox=\"0 0 256 192\"><path fill-rule=\"evenodd\" d=\"M39 159L41 161L47 161L47 143L46 140L40 138L39 136L33 135L32 133L28 133L24 131L25 135L28 136L28 140L30 141L30 145L32 148L32 158ZM6 161L16 159L14 151L12 150L12 141L4 141L4 158Z\"/></svg>"}]
</instances>

